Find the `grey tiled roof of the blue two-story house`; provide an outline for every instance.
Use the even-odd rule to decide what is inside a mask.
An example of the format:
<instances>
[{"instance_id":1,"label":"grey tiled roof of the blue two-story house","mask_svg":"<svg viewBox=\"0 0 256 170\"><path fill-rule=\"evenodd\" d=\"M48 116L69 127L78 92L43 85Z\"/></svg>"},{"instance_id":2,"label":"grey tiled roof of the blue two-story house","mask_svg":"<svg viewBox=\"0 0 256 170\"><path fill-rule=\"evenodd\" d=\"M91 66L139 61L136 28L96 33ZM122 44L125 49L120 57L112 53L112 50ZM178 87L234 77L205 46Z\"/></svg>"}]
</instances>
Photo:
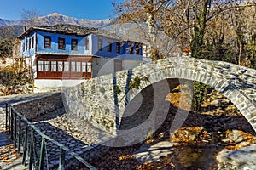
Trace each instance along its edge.
<instances>
[{"instance_id":1,"label":"grey tiled roof of the blue two-story house","mask_svg":"<svg viewBox=\"0 0 256 170\"><path fill-rule=\"evenodd\" d=\"M88 34L96 34L103 37L110 37L114 39L120 39L119 36L113 34L108 31L104 31L98 28L90 28L90 27L83 27L83 26L76 26L76 25L53 25L53 26L40 26L40 27L31 27L26 30L23 34L21 34L18 38L23 38L29 35L32 31L49 31L61 34L73 34L78 36L86 36Z\"/></svg>"}]
</instances>

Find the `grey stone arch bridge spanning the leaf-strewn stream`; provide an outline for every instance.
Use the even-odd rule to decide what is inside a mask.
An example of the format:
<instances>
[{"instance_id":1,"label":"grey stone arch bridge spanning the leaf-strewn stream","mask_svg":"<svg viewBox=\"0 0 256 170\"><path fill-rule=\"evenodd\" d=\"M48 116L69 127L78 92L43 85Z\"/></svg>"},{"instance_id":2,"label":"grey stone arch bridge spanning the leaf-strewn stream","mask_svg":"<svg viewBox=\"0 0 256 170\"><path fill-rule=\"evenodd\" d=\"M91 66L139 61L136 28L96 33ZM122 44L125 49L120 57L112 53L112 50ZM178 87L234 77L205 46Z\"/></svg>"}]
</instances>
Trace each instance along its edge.
<instances>
[{"instance_id":1,"label":"grey stone arch bridge spanning the leaf-strewn stream","mask_svg":"<svg viewBox=\"0 0 256 170\"><path fill-rule=\"evenodd\" d=\"M139 86L129 90L129 83L135 82L136 77L139 78ZM92 78L76 87L63 88L62 93L69 111L96 127L116 132L125 108L143 89L161 82L154 89L154 101L157 101L183 79L202 82L224 94L256 131L256 71L221 61L177 57L161 59L130 71ZM154 105L155 108L160 107L157 102ZM138 110L139 106L134 108Z\"/></svg>"}]
</instances>

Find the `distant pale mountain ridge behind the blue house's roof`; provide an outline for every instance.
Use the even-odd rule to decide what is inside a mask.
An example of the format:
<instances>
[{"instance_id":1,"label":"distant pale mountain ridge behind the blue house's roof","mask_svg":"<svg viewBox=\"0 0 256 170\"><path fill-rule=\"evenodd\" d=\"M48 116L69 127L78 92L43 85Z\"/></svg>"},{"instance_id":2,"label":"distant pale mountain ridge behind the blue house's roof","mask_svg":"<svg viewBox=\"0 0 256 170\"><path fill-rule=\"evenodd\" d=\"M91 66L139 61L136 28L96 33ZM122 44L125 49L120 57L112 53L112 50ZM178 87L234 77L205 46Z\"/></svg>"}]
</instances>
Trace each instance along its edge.
<instances>
[{"instance_id":1,"label":"distant pale mountain ridge behind the blue house's roof","mask_svg":"<svg viewBox=\"0 0 256 170\"><path fill-rule=\"evenodd\" d=\"M63 14L53 13L46 16L33 18L33 23L36 23L38 26L48 26L48 25L56 25L56 24L71 24L78 26L86 26L86 27L102 27L108 26L112 23L112 20L87 20L87 19L77 19L74 17L68 17ZM22 20L4 20L0 19L0 26L23 26Z\"/></svg>"}]
</instances>

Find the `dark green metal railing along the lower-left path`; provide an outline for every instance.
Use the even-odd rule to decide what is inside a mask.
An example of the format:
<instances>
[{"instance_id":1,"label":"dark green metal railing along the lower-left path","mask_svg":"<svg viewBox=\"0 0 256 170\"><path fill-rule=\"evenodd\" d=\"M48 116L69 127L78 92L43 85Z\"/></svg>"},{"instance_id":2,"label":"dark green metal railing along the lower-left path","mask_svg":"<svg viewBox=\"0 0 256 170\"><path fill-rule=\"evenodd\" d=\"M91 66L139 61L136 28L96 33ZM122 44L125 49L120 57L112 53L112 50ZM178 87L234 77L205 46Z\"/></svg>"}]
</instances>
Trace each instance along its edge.
<instances>
[{"instance_id":1,"label":"dark green metal railing along the lower-left path","mask_svg":"<svg viewBox=\"0 0 256 170\"><path fill-rule=\"evenodd\" d=\"M91 166L82 157L69 150L63 144L51 139L49 136L42 133L38 127L35 127L32 122L29 122L25 116L22 116L12 105L6 104L6 130L9 130L9 135L14 141L15 149L22 155L22 164L27 165L29 170L32 169L49 169L49 160L46 150L47 144L55 144L59 147L59 163L58 169L65 169L65 156L73 156L81 164L84 164L88 169L96 169ZM38 138L40 136L40 138ZM40 139L40 147L37 149L36 138ZM21 151L22 150L22 151Z\"/></svg>"}]
</instances>

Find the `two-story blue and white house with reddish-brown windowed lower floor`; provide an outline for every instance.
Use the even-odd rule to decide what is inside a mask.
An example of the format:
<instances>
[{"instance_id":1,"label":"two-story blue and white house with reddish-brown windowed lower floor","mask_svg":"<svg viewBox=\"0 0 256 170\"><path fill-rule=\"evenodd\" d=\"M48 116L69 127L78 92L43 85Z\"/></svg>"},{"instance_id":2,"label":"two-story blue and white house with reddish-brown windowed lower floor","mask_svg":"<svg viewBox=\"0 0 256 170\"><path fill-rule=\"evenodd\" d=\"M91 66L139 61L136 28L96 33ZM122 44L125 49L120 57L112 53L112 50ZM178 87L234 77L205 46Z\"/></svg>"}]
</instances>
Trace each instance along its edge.
<instances>
[{"instance_id":1,"label":"two-story blue and white house with reddish-brown windowed lower floor","mask_svg":"<svg viewBox=\"0 0 256 170\"><path fill-rule=\"evenodd\" d=\"M31 27L18 38L20 56L32 66L38 88L62 86L63 79L72 82L130 69L143 61L141 43L124 42L117 35L96 28Z\"/></svg>"}]
</instances>

